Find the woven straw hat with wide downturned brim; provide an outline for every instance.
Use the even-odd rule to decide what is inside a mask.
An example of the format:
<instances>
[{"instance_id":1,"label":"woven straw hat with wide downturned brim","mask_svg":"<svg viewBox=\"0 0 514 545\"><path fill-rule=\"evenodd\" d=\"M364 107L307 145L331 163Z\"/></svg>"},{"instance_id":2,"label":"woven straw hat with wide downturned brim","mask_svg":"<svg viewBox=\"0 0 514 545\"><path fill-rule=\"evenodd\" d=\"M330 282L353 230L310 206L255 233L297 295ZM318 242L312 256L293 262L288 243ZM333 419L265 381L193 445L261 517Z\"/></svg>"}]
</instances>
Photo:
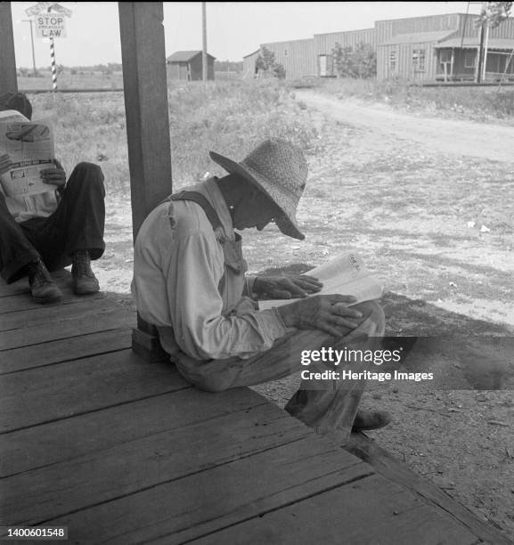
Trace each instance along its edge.
<instances>
[{"instance_id":1,"label":"woven straw hat with wide downturned brim","mask_svg":"<svg viewBox=\"0 0 514 545\"><path fill-rule=\"evenodd\" d=\"M215 151L210 158L233 174L239 174L273 200L281 208L283 216L275 217L275 223L284 234L303 240L298 230L297 207L307 181L307 162L302 151L280 138L270 138L260 143L249 155L236 163Z\"/></svg>"}]
</instances>

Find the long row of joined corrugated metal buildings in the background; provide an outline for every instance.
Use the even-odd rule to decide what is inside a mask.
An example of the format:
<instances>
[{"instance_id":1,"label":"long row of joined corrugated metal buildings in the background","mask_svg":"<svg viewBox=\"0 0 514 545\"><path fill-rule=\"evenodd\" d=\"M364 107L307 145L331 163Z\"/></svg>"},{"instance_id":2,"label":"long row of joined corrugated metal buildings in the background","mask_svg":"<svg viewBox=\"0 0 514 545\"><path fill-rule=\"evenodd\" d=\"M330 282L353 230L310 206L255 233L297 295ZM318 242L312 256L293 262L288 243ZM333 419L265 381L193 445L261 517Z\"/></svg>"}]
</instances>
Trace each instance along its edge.
<instances>
[{"instance_id":1,"label":"long row of joined corrugated metal buildings in the background","mask_svg":"<svg viewBox=\"0 0 514 545\"><path fill-rule=\"evenodd\" d=\"M343 47L365 43L377 53L378 79L472 80L477 74L479 47L476 19L477 15L451 13L377 20L374 28L316 34L314 39L273 42L261 48L273 51L288 79L334 77L332 50L336 43ZM514 79L514 18L491 28L487 45L485 79L500 79L504 73Z\"/></svg>"}]
</instances>

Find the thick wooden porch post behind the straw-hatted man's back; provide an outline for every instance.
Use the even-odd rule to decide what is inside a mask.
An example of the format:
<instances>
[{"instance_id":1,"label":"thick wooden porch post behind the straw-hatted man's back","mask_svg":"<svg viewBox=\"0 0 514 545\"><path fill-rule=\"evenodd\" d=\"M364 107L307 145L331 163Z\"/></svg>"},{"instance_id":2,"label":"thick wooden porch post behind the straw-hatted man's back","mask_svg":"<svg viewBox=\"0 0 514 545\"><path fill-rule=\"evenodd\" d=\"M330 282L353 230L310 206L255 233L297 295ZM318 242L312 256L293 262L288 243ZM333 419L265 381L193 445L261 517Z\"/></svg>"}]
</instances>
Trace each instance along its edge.
<instances>
[{"instance_id":1,"label":"thick wooden porch post behind the straw-hatted man's back","mask_svg":"<svg viewBox=\"0 0 514 545\"><path fill-rule=\"evenodd\" d=\"M172 192L162 2L119 2L132 231ZM138 315L132 348L163 357L154 328Z\"/></svg>"}]
</instances>

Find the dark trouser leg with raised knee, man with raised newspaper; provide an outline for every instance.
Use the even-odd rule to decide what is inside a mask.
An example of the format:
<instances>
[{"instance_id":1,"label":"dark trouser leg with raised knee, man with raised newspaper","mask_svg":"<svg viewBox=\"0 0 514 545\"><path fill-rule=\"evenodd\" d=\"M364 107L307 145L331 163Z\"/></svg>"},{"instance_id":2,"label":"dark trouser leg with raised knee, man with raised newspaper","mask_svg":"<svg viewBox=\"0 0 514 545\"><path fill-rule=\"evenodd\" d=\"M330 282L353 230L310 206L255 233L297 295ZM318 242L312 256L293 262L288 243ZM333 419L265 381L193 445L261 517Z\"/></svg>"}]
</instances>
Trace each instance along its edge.
<instances>
[{"instance_id":1,"label":"dark trouser leg with raised knee, man with raised newspaper","mask_svg":"<svg viewBox=\"0 0 514 545\"><path fill-rule=\"evenodd\" d=\"M102 169L93 163L79 163L52 216L21 224L50 271L71 264L71 256L78 250L88 250L91 259L102 256L104 198Z\"/></svg>"}]
</instances>

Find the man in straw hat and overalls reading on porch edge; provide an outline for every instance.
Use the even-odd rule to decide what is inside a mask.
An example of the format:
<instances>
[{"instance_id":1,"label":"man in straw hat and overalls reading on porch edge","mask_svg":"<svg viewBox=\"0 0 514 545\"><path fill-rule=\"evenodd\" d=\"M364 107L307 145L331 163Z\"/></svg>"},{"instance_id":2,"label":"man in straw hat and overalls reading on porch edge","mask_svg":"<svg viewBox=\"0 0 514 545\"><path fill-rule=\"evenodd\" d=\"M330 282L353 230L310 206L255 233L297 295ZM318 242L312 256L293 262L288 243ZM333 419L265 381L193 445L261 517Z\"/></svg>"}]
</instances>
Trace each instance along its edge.
<instances>
[{"instance_id":1,"label":"man in straw hat and overalls reading on porch edge","mask_svg":"<svg viewBox=\"0 0 514 545\"><path fill-rule=\"evenodd\" d=\"M245 276L241 236L274 221L304 239L296 223L307 165L301 150L270 139L241 163L217 153L229 173L180 191L145 219L135 241L132 292L143 320L157 326L179 372L209 391L252 386L301 367L302 350L322 346L372 349L384 333L374 302L348 307L345 295L313 295L316 279ZM259 311L259 297L297 298ZM319 368L322 370L322 366ZM384 426L388 413L357 412L363 381L304 380L286 406L317 433Z\"/></svg>"}]
</instances>

